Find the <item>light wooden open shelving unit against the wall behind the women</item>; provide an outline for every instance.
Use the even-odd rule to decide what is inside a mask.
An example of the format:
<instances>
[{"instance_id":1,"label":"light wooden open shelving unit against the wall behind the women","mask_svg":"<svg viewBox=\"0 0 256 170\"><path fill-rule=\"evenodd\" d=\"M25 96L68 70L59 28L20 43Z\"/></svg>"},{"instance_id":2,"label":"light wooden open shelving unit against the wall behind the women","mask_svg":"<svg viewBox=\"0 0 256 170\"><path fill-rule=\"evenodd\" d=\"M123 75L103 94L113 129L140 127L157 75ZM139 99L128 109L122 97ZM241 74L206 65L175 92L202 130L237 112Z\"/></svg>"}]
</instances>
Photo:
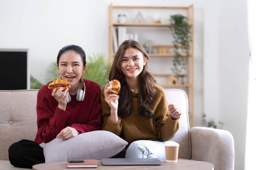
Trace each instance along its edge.
<instances>
[{"instance_id":1,"label":"light wooden open shelving unit against the wall behind the women","mask_svg":"<svg viewBox=\"0 0 256 170\"><path fill-rule=\"evenodd\" d=\"M145 28L145 29L153 29L154 32L161 32L161 30L163 28L169 28L170 27L170 22L161 22L161 23L155 23L153 20L152 21L146 21L143 23L135 23L133 22L131 19L127 19L127 21L125 23L119 23L117 20L117 12L119 13L123 13L123 12L128 12L127 14L129 16L135 16L135 13L138 13L138 11L150 11L150 13L155 13L159 12L161 13L162 11L167 11L170 12L170 14L168 14L168 16L165 17L170 17L170 15L174 14L174 12L178 13L183 13L182 15L184 15L185 17L188 18L188 24L191 26L192 28L192 37L193 37L193 5L190 5L188 7L161 7L161 6L114 6L114 5L110 5L109 6L109 59L110 59L110 63L112 63L113 58L115 56L115 52L114 52L114 41L113 41L113 31L114 29L118 28L118 27L126 27L127 29L141 29L141 28ZM165 12L166 13L166 12ZM129 17L127 16L127 17ZM160 30L160 31L159 31ZM146 30L145 30L146 32ZM170 31L171 34L171 31ZM158 42L161 42L161 39L157 39ZM140 42L140 39L138 40L138 42L140 44L143 45L142 42ZM179 46L181 47L181 46ZM186 73L182 73L179 74L178 76L180 78L184 78L185 80L183 82L180 82L179 80L175 80L175 76L177 76L177 74L173 74L171 71L168 73L154 73L151 72L153 74L153 76L158 79L158 78L162 78L166 80L166 83L157 83L161 86L163 86L164 88L181 88L183 90L186 91L187 95L188 95L188 99L189 99L189 116L190 116L190 126L193 127L193 115L194 115L194 51L193 51L193 40L190 44L190 51L189 51L189 56L187 54L181 54L182 57L184 57L185 59L185 63L186 63ZM159 44L156 43L152 44L152 48L157 48L157 52L156 51L152 51L152 52L148 52L148 57L149 58L159 58L157 59L159 61L159 65L160 65L160 60L162 59L168 59L168 58L173 58L175 56L174 53L171 52L171 49L174 48L172 41L170 40L169 44ZM158 64L158 63L154 63L154 64ZM170 62L170 65L172 65L172 63ZM150 64L150 67L152 67L152 65ZM161 70L160 70L161 71ZM159 70L158 70L159 72Z\"/></svg>"}]
</instances>

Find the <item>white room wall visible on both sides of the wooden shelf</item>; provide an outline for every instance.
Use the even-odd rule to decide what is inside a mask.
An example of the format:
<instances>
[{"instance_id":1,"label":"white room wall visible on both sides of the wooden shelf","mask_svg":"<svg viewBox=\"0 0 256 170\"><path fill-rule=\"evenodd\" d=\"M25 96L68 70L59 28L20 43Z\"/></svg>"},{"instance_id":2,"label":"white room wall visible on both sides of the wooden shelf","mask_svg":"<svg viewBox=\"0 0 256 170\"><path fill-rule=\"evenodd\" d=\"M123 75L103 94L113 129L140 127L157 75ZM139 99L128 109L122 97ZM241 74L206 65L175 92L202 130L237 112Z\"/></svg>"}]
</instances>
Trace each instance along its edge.
<instances>
[{"instance_id":1,"label":"white room wall visible on both sides of the wooden shelf","mask_svg":"<svg viewBox=\"0 0 256 170\"><path fill-rule=\"evenodd\" d=\"M243 169L247 92L245 0L0 0L0 48L29 49L31 74L45 82L60 48L108 54L108 6L194 4L195 125L201 113L220 120L235 138ZM11 66L10 66L11 67Z\"/></svg>"}]
</instances>

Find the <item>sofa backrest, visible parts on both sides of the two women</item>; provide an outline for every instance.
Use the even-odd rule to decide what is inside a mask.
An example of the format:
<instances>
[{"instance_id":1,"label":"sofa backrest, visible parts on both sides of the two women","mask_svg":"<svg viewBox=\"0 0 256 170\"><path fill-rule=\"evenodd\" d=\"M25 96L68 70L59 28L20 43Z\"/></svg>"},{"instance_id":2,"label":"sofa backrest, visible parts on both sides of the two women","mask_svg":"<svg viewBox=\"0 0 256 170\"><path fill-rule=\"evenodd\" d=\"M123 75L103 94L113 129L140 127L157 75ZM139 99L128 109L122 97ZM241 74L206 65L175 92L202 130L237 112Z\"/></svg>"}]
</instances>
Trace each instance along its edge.
<instances>
[{"instance_id":1,"label":"sofa backrest, visible parts on both sides of the two women","mask_svg":"<svg viewBox=\"0 0 256 170\"><path fill-rule=\"evenodd\" d=\"M169 103L181 106L179 130L171 139L179 143L179 158L190 158L188 98L180 89L165 89ZM34 140L37 133L38 90L0 90L0 160L8 160L9 146L21 139Z\"/></svg>"}]
</instances>

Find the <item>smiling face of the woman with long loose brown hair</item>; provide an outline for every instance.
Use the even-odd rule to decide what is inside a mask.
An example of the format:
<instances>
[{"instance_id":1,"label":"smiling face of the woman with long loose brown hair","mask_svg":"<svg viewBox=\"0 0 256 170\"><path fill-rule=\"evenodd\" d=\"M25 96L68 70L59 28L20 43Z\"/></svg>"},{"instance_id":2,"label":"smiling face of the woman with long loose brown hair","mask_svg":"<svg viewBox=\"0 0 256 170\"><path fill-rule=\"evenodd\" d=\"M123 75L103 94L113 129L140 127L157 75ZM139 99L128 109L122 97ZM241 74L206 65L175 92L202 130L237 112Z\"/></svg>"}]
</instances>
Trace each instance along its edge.
<instances>
[{"instance_id":1,"label":"smiling face of the woman with long loose brown hair","mask_svg":"<svg viewBox=\"0 0 256 170\"><path fill-rule=\"evenodd\" d=\"M121 69L126 78L137 79L145 63L142 52L135 48L128 48L121 59Z\"/></svg>"}]
</instances>

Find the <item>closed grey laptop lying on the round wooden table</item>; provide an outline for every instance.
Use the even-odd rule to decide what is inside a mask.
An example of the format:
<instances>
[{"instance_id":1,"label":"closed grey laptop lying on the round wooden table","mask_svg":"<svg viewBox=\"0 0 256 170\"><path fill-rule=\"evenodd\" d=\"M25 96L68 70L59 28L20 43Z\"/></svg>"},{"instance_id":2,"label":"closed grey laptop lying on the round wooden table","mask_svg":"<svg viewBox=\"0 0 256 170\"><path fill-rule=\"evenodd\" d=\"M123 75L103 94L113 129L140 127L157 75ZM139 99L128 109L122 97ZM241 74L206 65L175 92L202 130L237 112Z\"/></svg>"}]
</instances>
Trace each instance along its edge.
<instances>
[{"instance_id":1,"label":"closed grey laptop lying on the round wooden table","mask_svg":"<svg viewBox=\"0 0 256 170\"><path fill-rule=\"evenodd\" d=\"M101 164L108 165L162 165L158 158L102 158Z\"/></svg>"}]
</instances>

